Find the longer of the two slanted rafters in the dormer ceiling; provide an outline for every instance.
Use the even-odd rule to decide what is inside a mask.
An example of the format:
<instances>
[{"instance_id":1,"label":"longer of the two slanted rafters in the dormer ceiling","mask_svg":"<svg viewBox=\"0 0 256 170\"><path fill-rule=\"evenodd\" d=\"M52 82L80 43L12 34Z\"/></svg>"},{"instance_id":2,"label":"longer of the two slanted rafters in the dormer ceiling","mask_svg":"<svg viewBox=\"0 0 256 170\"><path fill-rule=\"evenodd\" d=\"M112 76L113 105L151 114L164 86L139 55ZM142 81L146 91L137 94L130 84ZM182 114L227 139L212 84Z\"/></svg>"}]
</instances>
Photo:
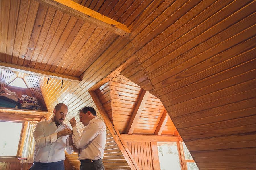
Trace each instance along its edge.
<instances>
[{"instance_id":1,"label":"longer of the two slanted rafters in the dormer ceiling","mask_svg":"<svg viewBox=\"0 0 256 170\"><path fill-rule=\"evenodd\" d=\"M126 129L127 134L129 134L129 135L133 134L134 128L137 124L137 121L139 120L142 109L148 99L148 95L149 95L149 92L142 89L141 96L139 98L139 101L134 109L133 115L132 115L131 120Z\"/></svg>"}]
</instances>

